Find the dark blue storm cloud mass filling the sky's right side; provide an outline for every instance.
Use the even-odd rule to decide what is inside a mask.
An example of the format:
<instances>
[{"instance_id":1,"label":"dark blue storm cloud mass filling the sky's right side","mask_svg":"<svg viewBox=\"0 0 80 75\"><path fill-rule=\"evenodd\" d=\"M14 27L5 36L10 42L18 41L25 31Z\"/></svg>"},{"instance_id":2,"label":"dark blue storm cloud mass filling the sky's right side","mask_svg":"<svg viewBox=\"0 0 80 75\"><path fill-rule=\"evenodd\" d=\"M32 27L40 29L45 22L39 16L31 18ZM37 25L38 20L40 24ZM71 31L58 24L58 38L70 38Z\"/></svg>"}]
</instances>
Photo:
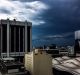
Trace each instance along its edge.
<instances>
[{"instance_id":1,"label":"dark blue storm cloud mass filling the sky's right side","mask_svg":"<svg viewBox=\"0 0 80 75\"><path fill-rule=\"evenodd\" d=\"M80 30L80 0L47 0L45 2L50 6L50 9L41 15L46 23L33 27L33 35L40 37L65 34L64 38L56 37L48 41L74 45L74 32Z\"/></svg>"}]
</instances>

